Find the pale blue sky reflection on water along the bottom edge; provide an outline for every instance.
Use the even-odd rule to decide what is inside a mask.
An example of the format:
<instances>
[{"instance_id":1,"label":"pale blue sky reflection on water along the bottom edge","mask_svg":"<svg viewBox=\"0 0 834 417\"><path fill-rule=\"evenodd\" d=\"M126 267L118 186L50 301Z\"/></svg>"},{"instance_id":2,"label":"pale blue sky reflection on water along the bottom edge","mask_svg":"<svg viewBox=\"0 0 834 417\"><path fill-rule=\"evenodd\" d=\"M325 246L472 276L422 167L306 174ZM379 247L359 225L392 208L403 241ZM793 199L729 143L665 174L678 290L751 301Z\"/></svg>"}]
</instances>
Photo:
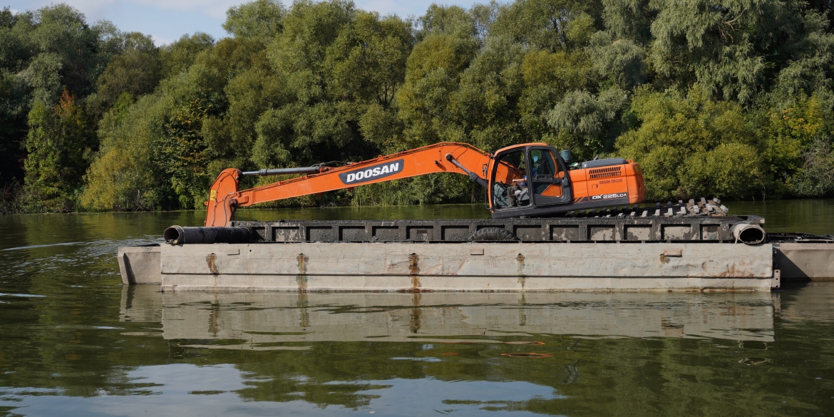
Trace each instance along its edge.
<instances>
[{"instance_id":1,"label":"pale blue sky reflection on water along the bottom edge","mask_svg":"<svg viewBox=\"0 0 834 417\"><path fill-rule=\"evenodd\" d=\"M439 379L386 379L361 383L324 384L319 395L306 395L317 381L307 378L286 380L254 379L248 372L229 364L165 364L143 366L129 371L125 379L141 381L141 388L90 398L63 397L49 390L27 390L5 394L25 397L13 415L341 415L345 412L380 415L470 414L472 411L515 411L535 415L525 407L560 399L555 390L519 381L443 381ZM264 400L259 390L266 384L291 384L295 389L279 398ZM207 386L213 389L206 390ZM458 395L449 399L450 394ZM124 395L129 394L129 395ZM324 395L323 395L324 394ZM37 399L35 399L37 398ZM241 399L244 399L241 401ZM247 400L248 399L248 400ZM188 404L188 405L185 405ZM2 409L0 409L2 410ZM83 410L83 412L78 412ZM415 410L428 412L415 413ZM469 412L469 413L468 413Z\"/></svg>"}]
</instances>

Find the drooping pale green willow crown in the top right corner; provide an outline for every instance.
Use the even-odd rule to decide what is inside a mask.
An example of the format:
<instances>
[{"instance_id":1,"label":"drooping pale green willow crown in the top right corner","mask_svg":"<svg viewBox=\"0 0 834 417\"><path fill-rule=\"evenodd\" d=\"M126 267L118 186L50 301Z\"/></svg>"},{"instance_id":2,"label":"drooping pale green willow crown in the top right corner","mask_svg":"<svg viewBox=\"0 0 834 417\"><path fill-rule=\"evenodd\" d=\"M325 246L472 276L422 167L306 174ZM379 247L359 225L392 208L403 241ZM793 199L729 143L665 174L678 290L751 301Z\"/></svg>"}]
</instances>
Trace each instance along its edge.
<instances>
[{"instance_id":1,"label":"drooping pale green willow crown in the top right corner","mask_svg":"<svg viewBox=\"0 0 834 417\"><path fill-rule=\"evenodd\" d=\"M649 59L667 83L701 83L716 98L748 105L775 77L831 78L827 22L798 1L657 2ZM810 92L806 92L810 93Z\"/></svg>"}]
</instances>

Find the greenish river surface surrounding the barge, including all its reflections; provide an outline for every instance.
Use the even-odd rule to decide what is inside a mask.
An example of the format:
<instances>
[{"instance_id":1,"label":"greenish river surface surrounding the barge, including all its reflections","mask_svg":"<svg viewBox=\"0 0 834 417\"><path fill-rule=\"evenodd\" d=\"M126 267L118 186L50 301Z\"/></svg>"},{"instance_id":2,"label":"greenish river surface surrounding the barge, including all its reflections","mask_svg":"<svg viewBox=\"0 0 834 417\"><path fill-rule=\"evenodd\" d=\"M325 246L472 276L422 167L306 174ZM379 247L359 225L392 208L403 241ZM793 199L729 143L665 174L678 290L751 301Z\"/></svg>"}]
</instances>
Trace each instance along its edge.
<instances>
[{"instance_id":1,"label":"greenish river surface surrounding the barge, including all its reflections","mask_svg":"<svg viewBox=\"0 0 834 417\"><path fill-rule=\"evenodd\" d=\"M834 201L726 203L834 234ZM238 219L485 218L482 205ZM118 246L200 212L0 216L0 415L830 415L834 283L772 294L210 294Z\"/></svg>"}]
</instances>

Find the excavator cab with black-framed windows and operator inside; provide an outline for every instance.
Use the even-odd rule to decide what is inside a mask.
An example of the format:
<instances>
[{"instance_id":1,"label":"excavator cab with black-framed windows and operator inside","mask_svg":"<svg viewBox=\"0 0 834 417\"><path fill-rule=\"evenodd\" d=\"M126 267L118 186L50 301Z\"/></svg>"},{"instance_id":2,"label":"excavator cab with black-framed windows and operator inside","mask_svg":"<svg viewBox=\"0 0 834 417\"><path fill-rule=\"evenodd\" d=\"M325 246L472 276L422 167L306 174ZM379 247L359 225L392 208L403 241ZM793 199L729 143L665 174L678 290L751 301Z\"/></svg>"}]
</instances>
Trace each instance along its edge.
<instances>
[{"instance_id":1,"label":"excavator cab with black-framed windows and operator inside","mask_svg":"<svg viewBox=\"0 0 834 417\"><path fill-rule=\"evenodd\" d=\"M545 143L496 152L489 190L495 219L563 212L557 206L573 201L565 161Z\"/></svg>"}]
</instances>

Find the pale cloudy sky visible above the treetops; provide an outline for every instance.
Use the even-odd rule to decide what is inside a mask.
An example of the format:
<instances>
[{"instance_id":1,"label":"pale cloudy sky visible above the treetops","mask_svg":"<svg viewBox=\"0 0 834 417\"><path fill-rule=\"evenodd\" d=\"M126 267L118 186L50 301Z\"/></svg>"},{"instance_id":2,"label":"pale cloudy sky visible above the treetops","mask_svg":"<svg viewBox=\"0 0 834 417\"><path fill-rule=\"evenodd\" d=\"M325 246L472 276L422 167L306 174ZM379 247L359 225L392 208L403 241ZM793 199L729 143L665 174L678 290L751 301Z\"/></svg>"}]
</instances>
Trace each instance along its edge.
<instances>
[{"instance_id":1,"label":"pale cloudy sky visible above the treetops","mask_svg":"<svg viewBox=\"0 0 834 417\"><path fill-rule=\"evenodd\" d=\"M228 34L221 25L226 10L244 0L0 0L0 7L15 12L35 10L52 3L67 3L87 17L88 23L109 20L124 32L141 32L161 45L172 43L183 34L204 32L215 39ZM290 5L291 0L284 0ZM420 16L431 3L457 4L470 8L474 0L354 0L357 8L379 14L396 14L402 18Z\"/></svg>"}]
</instances>

